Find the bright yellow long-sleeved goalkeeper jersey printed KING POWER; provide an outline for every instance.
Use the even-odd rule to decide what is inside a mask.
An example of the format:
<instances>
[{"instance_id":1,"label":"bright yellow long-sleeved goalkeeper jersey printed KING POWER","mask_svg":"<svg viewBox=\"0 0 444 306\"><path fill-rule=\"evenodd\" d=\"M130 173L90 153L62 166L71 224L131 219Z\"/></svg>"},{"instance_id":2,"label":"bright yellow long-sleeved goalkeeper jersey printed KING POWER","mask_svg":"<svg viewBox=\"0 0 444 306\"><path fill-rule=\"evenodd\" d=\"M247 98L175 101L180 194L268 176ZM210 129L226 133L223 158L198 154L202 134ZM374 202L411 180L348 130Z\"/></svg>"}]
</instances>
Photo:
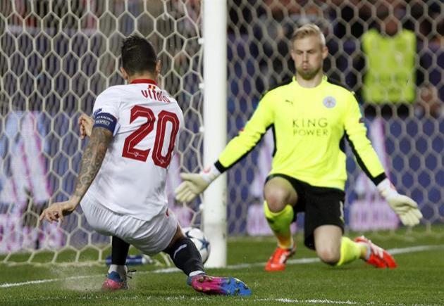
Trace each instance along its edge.
<instances>
[{"instance_id":1,"label":"bright yellow long-sleeved goalkeeper jersey printed KING POWER","mask_svg":"<svg viewBox=\"0 0 444 306\"><path fill-rule=\"evenodd\" d=\"M272 128L275 141L270 174L286 174L312 186L345 189L345 139L359 166L378 184L384 178L378 155L366 137L352 91L327 77L314 88L289 84L267 92L245 128L219 155L216 168L232 167Z\"/></svg>"}]
</instances>

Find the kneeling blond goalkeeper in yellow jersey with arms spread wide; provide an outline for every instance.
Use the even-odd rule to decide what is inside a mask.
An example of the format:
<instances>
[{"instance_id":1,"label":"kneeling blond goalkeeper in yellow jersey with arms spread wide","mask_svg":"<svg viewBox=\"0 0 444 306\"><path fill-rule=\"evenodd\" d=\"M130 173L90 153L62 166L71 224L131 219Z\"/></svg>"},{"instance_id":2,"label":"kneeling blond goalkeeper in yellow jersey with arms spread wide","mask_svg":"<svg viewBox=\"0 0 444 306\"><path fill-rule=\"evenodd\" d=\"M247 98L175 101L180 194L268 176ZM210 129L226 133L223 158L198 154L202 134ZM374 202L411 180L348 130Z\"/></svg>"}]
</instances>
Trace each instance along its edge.
<instances>
[{"instance_id":1,"label":"kneeling blond goalkeeper in yellow jersey with arms spread wide","mask_svg":"<svg viewBox=\"0 0 444 306\"><path fill-rule=\"evenodd\" d=\"M286 260L295 253L290 224L297 212L305 212L305 245L316 250L323 262L340 266L361 258L375 267L394 268L393 257L368 239L352 241L343 236L345 139L362 170L403 224L419 223L422 215L417 203L397 193L388 181L366 137L354 94L323 75L328 49L319 27L300 27L291 42L297 71L292 82L264 95L245 129L228 143L214 165L199 174L181 174L183 183L176 189L176 198L182 202L194 199L272 128L275 152L264 186L264 212L278 247L266 271L285 269Z\"/></svg>"}]
</instances>

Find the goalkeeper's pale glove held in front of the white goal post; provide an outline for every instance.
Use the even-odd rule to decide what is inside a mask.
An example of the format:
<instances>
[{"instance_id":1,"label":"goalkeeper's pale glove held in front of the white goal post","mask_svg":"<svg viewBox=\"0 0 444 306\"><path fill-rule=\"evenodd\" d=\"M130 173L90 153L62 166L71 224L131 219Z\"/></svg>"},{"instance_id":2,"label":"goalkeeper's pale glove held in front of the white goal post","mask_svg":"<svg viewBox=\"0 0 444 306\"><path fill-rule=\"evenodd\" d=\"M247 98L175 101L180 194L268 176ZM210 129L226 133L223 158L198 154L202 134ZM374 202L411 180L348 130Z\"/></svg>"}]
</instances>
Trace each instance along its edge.
<instances>
[{"instance_id":1,"label":"goalkeeper's pale glove held in front of the white goal post","mask_svg":"<svg viewBox=\"0 0 444 306\"><path fill-rule=\"evenodd\" d=\"M181 173L180 178L183 182L175 189L175 199L182 203L194 200L200 193L204 192L206 187L214 181L221 172L214 165L206 170L197 173Z\"/></svg>"}]
</instances>

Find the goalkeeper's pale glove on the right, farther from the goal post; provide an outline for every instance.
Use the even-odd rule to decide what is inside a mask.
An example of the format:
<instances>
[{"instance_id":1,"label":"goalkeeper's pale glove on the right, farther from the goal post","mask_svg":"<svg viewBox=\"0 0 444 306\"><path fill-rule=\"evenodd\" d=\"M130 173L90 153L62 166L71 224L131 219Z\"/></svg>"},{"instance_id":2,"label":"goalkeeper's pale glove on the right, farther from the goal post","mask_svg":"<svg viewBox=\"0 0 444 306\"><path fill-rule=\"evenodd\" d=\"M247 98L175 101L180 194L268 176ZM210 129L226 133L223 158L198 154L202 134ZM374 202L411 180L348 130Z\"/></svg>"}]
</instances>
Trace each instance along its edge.
<instances>
[{"instance_id":1,"label":"goalkeeper's pale glove on the right, farther from the goal post","mask_svg":"<svg viewBox=\"0 0 444 306\"><path fill-rule=\"evenodd\" d=\"M419 224L422 214L418 209L418 204L409 198L397 193L395 187L388 179L384 179L378 184L378 191L386 200L390 208L400 217L402 224L412 227Z\"/></svg>"}]
</instances>

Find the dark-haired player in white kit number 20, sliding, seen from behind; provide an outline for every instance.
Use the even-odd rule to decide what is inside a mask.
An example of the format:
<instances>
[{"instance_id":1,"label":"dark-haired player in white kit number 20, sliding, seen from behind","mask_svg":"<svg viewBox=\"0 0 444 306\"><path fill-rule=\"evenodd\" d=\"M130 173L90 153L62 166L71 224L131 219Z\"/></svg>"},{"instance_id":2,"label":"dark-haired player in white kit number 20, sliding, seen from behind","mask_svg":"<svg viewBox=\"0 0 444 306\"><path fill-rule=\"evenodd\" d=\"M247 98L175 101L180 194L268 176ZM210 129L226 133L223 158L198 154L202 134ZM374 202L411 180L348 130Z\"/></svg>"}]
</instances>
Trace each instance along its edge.
<instances>
[{"instance_id":1,"label":"dark-haired player in white kit number 20, sliding, seen from behind","mask_svg":"<svg viewBox=\"0 0 444 306\"><path fill-rule=\"evenodd\" d=\"M121 72L128 84L97 96L74 194L45 209L40 220L62 221L80 203L88 223L113 236L113 255L125 258L128 243L147 255L164 251L196 291L251 294L238 279L205 274L199 251L168 210L166 174L183 129L183 113L156 84L160 62L147 39L128 37L121 53ZM128 288L125 277L124 262L112 264L102 288Z\"/></svg>"}]
</instances>

